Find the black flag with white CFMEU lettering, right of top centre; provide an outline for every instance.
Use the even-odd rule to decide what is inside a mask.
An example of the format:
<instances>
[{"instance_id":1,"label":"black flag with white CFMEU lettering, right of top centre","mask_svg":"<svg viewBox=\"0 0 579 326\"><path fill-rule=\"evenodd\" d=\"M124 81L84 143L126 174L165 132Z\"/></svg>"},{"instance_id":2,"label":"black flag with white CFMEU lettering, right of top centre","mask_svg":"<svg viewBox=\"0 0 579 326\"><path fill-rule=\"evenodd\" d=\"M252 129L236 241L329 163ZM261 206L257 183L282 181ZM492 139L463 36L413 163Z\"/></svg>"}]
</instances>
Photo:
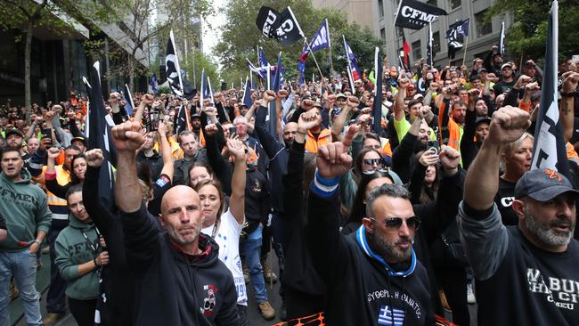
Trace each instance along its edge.
<instances>
[{"instance_id":1,"label":"black flag with white CFMEU lettering, right of top centre","mask_svg":"<svg viewBox=\"0 0 579 326\"><path fill-rule=\"evenodd\" d=\"M418 0L402 0L396 13L395 26L404 29L422 29L441 15L447 15L444 9L421 3Z\"/></svg>"}]
</instances>

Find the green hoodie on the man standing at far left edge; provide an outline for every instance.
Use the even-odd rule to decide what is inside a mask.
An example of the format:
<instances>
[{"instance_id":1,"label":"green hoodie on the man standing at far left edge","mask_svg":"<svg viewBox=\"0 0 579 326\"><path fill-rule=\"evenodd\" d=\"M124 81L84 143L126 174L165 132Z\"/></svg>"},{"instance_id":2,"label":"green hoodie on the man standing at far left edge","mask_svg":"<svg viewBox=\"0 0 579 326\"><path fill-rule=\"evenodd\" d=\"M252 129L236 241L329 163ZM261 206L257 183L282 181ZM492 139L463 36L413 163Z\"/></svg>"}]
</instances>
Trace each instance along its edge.
<instances>
[{"instance_id":1,"label":"green hoodie on the man standing at far left edge","mask_svg":"<svg viewBox=\"0 0 579 326\"><path fill-rule=\"evenodd\" d=\"M6 220L8 238L0 242L0 251L15 252L28 248L37 239L37 232L48 233L52 213L46 194L30 183L30 173L23 168L21 181L13 182L0 173L0 213Z\"/></svg>"}]
</instances>

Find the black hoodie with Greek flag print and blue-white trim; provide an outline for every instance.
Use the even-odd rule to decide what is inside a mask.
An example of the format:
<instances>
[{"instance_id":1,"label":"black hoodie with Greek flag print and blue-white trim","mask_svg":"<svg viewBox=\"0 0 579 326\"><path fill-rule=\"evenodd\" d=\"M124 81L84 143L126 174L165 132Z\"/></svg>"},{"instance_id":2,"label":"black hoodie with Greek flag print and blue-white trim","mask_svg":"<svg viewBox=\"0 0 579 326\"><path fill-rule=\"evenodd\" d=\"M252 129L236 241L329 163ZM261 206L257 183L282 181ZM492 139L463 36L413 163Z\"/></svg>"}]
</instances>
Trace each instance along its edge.
<instances>
[{"instance_id":1,"label":"black hoodie with Greek flag print and blue-white trim","mask_svg":"<svg viewBox=\"0 0 579 326\"><path fill-rule=\"evenodd\" d=\"M428 275L414 250L406 266L372 252L363 226L339 232L338 178L316 172L307 208L307 245L327 286L328 325L433 325Z\"/></svg>"}]
</instances>

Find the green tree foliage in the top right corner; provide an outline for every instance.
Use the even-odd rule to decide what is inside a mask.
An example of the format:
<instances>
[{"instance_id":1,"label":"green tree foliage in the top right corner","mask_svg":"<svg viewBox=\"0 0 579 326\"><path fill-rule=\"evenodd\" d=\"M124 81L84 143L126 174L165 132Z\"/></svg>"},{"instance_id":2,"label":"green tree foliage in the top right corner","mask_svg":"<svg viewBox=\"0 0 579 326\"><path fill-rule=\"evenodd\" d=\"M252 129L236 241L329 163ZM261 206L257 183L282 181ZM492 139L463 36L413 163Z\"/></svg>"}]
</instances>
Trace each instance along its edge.
<instances>
[{"instance_id":1,"label":"green tree foliage in the top right corner","mask_svg":"<svg viewBox=\"0 0 579 326\"><path fill-rule=\"evenodd\" d=\"M517 58L542 59L547 42L547 22L551 0L496 0L485 19L512 12L514 22L507 33L507 46ZM579 2L559 0L559 60L577 54L579 38Z\"/></svg>"}]
</instances>

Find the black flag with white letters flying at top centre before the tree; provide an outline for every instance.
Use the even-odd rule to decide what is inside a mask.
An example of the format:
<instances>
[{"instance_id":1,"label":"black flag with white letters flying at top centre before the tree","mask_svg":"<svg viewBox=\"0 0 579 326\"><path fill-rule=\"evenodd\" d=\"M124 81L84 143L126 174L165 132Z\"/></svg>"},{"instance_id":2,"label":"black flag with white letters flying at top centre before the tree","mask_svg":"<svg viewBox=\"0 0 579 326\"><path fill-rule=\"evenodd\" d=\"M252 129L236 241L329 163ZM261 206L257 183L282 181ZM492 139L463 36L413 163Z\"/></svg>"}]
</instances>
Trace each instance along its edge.
<instances>
[{"instance_id":1,"label":"black flag with white letters flying at top centre before the tree","mask_svg":"<svg viewBox=\"0 0 579 326\"><path fill-rule=\"evenodd\" d=\"M256 26L265 37L275 38L285 46L293 45L304 35L290 7L283 12L276 12L266 6L261 7L257 14Z\"/></svg>"}]
</instances>

